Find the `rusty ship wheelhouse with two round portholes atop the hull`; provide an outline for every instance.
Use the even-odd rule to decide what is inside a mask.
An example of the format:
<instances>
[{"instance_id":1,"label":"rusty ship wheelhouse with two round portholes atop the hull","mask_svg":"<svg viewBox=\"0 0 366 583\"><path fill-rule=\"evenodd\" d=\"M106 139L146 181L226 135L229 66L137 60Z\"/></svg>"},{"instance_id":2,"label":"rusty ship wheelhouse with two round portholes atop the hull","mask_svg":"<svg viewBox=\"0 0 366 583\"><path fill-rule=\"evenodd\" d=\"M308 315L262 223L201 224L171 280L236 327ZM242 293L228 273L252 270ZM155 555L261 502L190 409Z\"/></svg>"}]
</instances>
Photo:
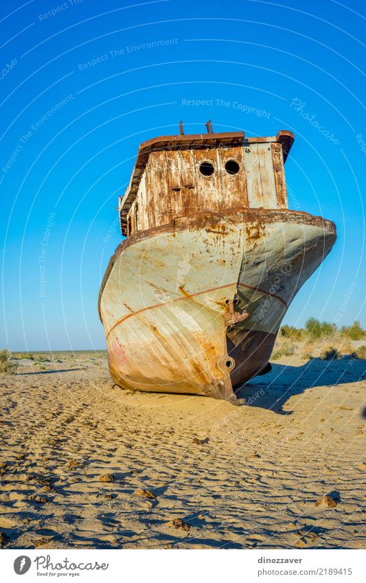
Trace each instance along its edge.
<instances>
[{"instance_id":1,"label":"rusty ship wheelhouse with two round portholes atop the hull","mask_svg":"<svg viewBox=\"0 0 366 583\"><path fill-rule=\"evenodd\" d=\"M279 131L271 137L210 132L144 142L126 193L119 197L122 234L199 212L287 209L284 162L293 141L293 133Z\"/></svg>"}]
</instances>

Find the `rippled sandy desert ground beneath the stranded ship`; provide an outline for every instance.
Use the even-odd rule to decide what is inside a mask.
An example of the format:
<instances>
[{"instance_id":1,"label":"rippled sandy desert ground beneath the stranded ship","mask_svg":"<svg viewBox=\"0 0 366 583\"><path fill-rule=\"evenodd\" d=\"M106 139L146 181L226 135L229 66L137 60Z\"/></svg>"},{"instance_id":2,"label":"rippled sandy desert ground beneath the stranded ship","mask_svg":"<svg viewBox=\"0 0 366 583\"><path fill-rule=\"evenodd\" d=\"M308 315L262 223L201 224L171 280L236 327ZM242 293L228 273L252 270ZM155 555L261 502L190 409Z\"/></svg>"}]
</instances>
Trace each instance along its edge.
<instances>
[{"instance_id":1,"label":"rippled sandy desert ground beneath the stranded ship","mask_svg":"<svg viewBox=\"0 0 366 583\"><path fill-rule=\"evenodd\" d=\"M104 353L19 362L0 376L1 546L366 547L366 361L275 361L244 407L123 391Z\"/></svg>"}]
</instances>

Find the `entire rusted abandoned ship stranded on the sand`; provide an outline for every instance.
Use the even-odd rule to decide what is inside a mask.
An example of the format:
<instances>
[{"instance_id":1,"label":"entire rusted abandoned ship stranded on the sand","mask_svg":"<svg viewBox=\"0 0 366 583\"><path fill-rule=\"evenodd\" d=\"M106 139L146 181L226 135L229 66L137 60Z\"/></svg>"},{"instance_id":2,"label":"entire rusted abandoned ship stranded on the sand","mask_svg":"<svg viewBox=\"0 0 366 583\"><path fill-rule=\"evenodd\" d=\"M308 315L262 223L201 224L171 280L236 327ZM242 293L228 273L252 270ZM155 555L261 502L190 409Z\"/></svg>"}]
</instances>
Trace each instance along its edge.
<instances>
[{"instance_id":1,"label":"entire rusted abandoned ship stranded on the sand","mask_svg":"<svg viewBox=\"0 0 366 583\"><path fill-rule=\"evenodd\" d=\"M139 147L98 307L117 385L239 404L236 387L271 369L284 314L336 228L288 209L293 133L206 127Z\"/></svg>"}]
</instances>

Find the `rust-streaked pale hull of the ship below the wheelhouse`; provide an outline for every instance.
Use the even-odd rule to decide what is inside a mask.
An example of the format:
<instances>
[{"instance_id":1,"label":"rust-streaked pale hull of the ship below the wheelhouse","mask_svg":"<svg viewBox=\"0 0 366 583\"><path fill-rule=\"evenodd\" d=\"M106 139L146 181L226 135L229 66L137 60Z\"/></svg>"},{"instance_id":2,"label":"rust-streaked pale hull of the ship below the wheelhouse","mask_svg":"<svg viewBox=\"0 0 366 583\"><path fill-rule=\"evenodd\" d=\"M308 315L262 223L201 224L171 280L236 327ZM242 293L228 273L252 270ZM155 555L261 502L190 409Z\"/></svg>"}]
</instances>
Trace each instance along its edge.
<instances>
[{"instance_id":1,"label":"rust-streaked pale hull of the ship below the wheelhouse","mask_svg":"<svg viewBox=\"0 0 366 583\"><path fill-rule=\"evenodd\" d=\"M186 206L128 229L99 301L117 385L236 403L235 387L266 371L290 302L336 239L331 221L278 206Z\"/></svg>"}]
</instances>

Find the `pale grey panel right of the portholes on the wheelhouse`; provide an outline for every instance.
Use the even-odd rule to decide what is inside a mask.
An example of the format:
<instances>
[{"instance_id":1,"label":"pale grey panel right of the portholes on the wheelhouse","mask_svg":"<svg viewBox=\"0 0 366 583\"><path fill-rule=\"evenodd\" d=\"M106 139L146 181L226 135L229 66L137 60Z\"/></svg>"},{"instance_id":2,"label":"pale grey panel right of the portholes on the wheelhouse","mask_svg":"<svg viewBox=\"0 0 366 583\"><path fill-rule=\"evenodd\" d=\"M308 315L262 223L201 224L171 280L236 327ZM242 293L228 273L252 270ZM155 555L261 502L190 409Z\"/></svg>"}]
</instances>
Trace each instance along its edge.
<instances>
[{"instance_id":1,"label":"pale grey panel right of the portholes on the wheelhouse","mask_svg":"<svg viewBox=\"0 0 366 583\"><path fill-rule=\"evenodd\" d=\"M249 207L277 208L271 144L251 144L245 148L245 168Z\"/></svg>"}]
</instances>

